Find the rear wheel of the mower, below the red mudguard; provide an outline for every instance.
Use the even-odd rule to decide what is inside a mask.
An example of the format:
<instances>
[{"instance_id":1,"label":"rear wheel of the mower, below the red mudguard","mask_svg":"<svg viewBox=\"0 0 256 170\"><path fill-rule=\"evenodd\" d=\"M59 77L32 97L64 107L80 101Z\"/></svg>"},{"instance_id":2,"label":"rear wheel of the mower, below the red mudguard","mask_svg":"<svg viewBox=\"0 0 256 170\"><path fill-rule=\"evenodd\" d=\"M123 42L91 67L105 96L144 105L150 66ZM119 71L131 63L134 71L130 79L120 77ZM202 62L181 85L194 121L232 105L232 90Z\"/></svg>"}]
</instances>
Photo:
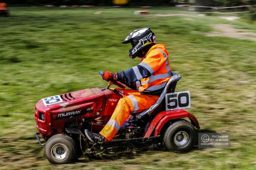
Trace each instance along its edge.
<instances>
[{"instance_id":1,"label":"rear wheel of the mower, below the red mudguard","mask_svg":"<svg viewBox=\"0 0 256 170\"><path fill-rule=\"evenodd\" d=\"M186 120L173 122L164 133L163 142L168 150L187 152L195 144L195 127Z\"/></svg>"}]
</instances>

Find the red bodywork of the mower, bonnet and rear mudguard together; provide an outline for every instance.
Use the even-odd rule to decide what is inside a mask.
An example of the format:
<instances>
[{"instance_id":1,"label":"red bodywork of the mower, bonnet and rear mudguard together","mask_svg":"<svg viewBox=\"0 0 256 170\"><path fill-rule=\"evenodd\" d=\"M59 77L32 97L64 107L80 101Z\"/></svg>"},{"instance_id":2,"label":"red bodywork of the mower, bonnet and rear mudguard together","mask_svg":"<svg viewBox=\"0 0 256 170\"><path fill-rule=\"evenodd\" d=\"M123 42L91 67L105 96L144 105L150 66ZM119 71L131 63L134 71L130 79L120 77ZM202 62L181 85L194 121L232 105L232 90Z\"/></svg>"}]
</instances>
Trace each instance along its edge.
<instances>
[{"instance_id":1,"label":"red bodywork of the mower, bonnet and rear mudguard together","mask_svg":"<svg viewBox=\"0 0 256 170\"><path fill-rule=\"evenodd\" d=\"M122 96L109 89L84 89L59 95L61 100L51 105L44 105L42 99L35 106L36 127L45 140L63 133L66 123L81 119L91 119L94 132L99 132L110 119ZM162 111L151 120L144 137L157 136L163 125L173 119L188 117L199 128L198 121L184 110ZM154 133L153 133L154 131Z\"/></svg>"}]
</instances>

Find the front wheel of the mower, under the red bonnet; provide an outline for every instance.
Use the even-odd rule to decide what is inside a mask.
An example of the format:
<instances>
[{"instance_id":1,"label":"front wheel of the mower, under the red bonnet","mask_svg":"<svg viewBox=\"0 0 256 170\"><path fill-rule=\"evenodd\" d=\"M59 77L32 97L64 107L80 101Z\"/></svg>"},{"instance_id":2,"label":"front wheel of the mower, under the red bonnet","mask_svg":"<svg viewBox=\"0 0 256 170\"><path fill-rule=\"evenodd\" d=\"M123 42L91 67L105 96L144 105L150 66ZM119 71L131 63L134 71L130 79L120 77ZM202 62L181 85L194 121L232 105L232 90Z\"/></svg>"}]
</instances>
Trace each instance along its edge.
<instances>
[{"instance_id":1,"label":"front wheel of the mower, under the red bonnet","mask_svg":"<svg viewBox=\"0 0 256 170\"><path fill-rule=\"evenodd\" d=\"M52 164L65 164L76 159L76 142L70 136L57 134L45 144L44 155Z\"/></svg>"}]
</instances>

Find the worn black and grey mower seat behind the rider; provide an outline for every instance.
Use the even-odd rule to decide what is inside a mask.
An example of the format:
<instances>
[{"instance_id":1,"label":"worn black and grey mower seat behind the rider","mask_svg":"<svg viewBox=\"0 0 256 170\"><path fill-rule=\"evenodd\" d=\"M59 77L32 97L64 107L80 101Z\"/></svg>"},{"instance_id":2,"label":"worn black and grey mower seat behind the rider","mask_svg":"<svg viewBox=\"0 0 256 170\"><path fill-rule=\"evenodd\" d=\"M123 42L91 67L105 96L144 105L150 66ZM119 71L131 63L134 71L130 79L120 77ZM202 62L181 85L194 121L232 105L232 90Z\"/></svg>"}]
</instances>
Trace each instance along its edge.
<instances>
[{"instance_id":1,"label":"worn black and grey mower seat behind the rider","mask_svg":"<svg viewBox=\"0 0 256 170\"><path fill-rule=\"evenodd\" d=\"M155 115L154 113L163 111L165 109L165 96L168 93L175 92L176 84L177 84L177 81L179 81L179 79L181 79L181 76L172 72L172 77L166 83L166 86L162 91L162 93L160 94L159 98L157 99L157 102L155 102L155 104L152 105L149 109L136 114L135 115L136 118L141 119L143 121L148 120L150 117L153 117Z\"/></svg>"}]
</instances>

